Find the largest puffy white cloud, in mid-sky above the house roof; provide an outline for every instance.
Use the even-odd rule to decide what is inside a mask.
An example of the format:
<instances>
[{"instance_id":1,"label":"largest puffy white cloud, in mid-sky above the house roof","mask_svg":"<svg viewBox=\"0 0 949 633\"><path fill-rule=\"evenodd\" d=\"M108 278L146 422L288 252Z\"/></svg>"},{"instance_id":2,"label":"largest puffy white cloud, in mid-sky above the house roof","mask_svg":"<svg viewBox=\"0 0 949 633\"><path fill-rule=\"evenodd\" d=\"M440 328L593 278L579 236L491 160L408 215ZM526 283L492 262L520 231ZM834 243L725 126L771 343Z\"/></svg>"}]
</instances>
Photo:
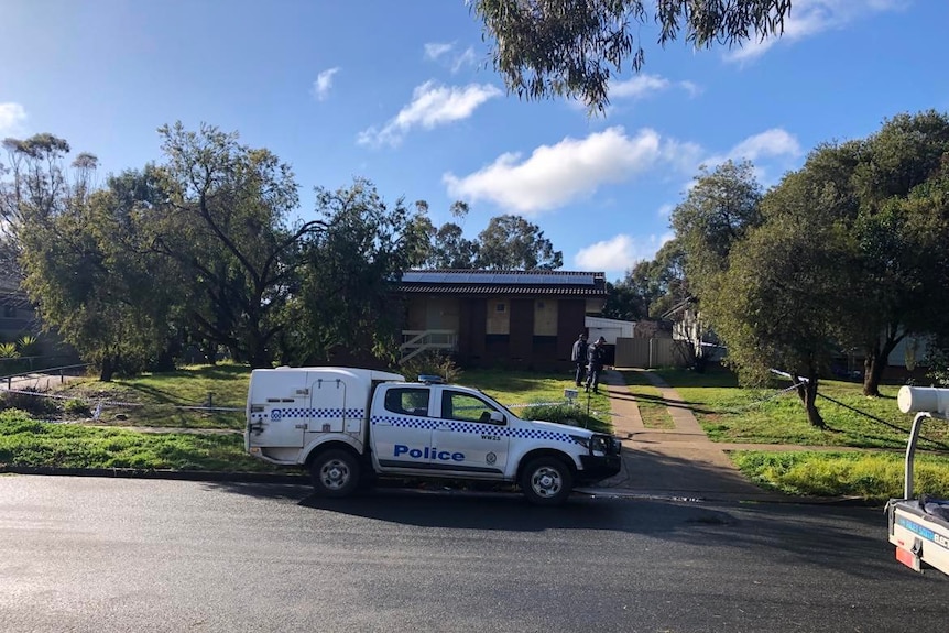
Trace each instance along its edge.
<instances>
[{"instance_id":1,"label":"largest puffy white cloud, in mid-sky above the house roof","mask_svg":"<svg viewBox=\"0 0 949 633\"><path fill-rule=\"evenodd\" d=\"M621 127L586 139L566 138L541 145L521 160L516 153L463 177L446 173L441 179L452 197L491 200L500 207L531 215L589 197L600 186L622 183L659 164L695 165L698 146L664 140L650 129L628 137Z\"/></svg>"}]
</instances>

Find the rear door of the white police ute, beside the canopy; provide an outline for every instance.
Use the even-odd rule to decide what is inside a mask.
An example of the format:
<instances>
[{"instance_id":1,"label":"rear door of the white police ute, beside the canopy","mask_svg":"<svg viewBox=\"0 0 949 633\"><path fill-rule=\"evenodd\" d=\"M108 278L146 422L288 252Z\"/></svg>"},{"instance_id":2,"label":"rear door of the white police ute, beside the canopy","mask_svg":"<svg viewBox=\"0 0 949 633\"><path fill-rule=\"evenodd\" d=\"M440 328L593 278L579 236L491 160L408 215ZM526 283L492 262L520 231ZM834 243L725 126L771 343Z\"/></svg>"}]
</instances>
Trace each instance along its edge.
<instances>
[{"instance_id":1,"label":"rear door of the white police ute, beside the canopy","mask_svg":"<svg viewBox=\"0 0 949 633\"><path fill-rule=\"evenodd\" d=\"M375 459L381 470L428 470L432 465L432 427L428 388L384 388L384 411L373 411Z\"/></svg>"}]
</instances>

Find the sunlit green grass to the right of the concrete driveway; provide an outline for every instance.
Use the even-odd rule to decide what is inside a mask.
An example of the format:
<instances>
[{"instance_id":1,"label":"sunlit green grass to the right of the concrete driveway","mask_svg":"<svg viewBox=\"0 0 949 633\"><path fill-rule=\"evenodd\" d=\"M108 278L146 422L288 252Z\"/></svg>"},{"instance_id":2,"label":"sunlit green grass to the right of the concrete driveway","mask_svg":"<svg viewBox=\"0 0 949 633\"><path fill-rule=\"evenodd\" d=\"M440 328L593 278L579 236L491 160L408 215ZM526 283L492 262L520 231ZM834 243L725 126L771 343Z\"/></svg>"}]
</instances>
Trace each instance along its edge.
<instances>
[{"instance_id":1,"label":"sunlit green grass to the right of the concrete driveway","mask_svg":"<svg viewBox=\"0 0 949 633\"><path fill-rule=\"evenodd\" d=\"M896 407L898 385L866 397L862 385L821 381L818 399L827 429L814 428L788 381L770 389L740 389L734 376L713 368L657 372L696 414L716 441L865 448L866 451L731 451L735 466L759 485L793 495L859 496L885 501L903 494L904 450L913 416ZM927 421L916 458L917 493L949 498L949 424Z\"/></svg>"}]
</instances>

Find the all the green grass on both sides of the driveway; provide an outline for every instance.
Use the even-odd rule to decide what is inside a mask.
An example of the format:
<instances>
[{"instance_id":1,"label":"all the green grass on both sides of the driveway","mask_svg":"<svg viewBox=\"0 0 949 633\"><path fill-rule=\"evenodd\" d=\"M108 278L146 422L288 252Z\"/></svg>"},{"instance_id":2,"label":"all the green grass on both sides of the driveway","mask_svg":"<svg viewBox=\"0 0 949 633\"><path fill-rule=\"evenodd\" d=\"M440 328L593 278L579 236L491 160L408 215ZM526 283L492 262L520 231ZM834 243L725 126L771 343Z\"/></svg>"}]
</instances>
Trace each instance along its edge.
<instances>
[{"instance_id":1,"label":"all the green grass on both sides of the driveway","mask_svg":"<svg viewBox=\"0 0 949 633\"><path fill-rule=\"evenodd\" d=\"M883 396L861 395L860 384L821 382L819 408L828 429L810 427L789 383L770 389L740 389L732 374L712 368L703 373L659 370L692 407L713 440L727 443L800 444L805 446L873 449L841 451L732 451L742 472L759 484L790 494L857 495L871 500L899 496L903 455L912 417L898 412L897 385L884 385ZM102 404L95 424L39 423L22 412L0 411L0 465L74 468L141 468L266 471L270 466L243 452L240 435L186 433L149 434L121 426L161 426L192 429L241 429L250 370L238 365L188 367L171 373L145 374L101 383L92 379L69 382L57 394L59 410L40 418L81 419L84 408ZM652 428L669 428L659 391L636 372L625 374L641 413ZM526 371L468 370L460 384L481 389L523 417L568 422L609 429L609 400L603 394L579 393L574 406L564 403L572 389L569 374ZM8 396L11 394L8 394ZM25 397L25 396L24 396ZM72 400L69 400L72 399ZM36 399L30 399L35 403ZM205 413L188 407L232 407L233 412ZM525 406L530 405L530 406ZM10 403L8 402L8 406ZM589 410L590 415L586 413ZM917 458L919 491L949 496L949 425L935 421L924 427L920 448L945 455Z\"/></svg>"}]
</instances>

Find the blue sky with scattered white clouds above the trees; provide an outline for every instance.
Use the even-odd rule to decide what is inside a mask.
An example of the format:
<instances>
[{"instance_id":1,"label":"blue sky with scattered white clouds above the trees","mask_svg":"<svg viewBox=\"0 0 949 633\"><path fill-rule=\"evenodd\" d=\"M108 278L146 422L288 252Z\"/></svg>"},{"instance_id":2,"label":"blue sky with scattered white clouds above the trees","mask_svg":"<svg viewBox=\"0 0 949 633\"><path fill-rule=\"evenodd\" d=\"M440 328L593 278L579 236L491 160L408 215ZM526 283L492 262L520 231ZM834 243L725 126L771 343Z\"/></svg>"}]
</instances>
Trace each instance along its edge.
<instances>
[{"instance_id":1,"label":"blue sky with scattered white clouds above the trees","mask_svg":"<svg viewBox=\"0 0 949 633\"><path fill-rule=\"evenodd\" d=\"M785 36L655 44L606 116L506 95L463 0L0 0L0 138L52 132L107 173L161 159L163 123L238 131L314 186L372 181L469 203L473 238L519 214L567 270L620 279L669 239L700 164L750 159L765 186L818 143L949 111L949 2L795 0Z\"/></svg>"}]
</instances>

